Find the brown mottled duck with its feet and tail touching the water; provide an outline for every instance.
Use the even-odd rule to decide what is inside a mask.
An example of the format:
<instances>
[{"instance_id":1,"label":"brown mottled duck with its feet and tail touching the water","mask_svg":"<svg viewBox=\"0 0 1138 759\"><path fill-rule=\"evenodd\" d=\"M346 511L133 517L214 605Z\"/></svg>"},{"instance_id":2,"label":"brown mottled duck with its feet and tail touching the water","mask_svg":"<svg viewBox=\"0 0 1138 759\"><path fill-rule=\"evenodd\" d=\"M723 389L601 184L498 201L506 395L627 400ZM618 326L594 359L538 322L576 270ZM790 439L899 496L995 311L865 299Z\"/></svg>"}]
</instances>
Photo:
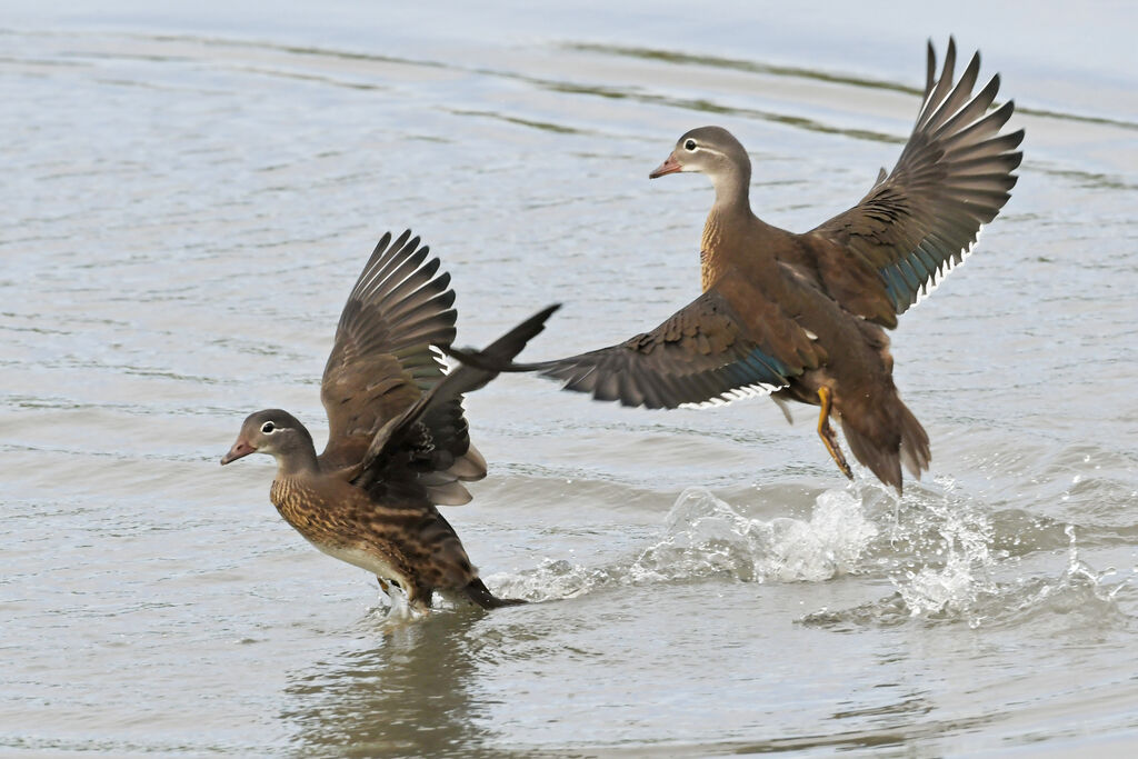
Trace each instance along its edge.
<instances>
[{"instance_id":1,"label":"brown mottled duck with its feet and tail touching the water","mask_svg":"<svg viewBox=\"0 0 1138 759\"><path fill-rule=\"evenodd\" d=\"M385 234L348 296L321 385L323 453L295 416L267 409L245 420L221 463L274 456L270 498L281 517L324 553L373 572L385 589L402 588L412 609L429 608L435 591L484 608L521 603L486 588L436 505L467 503L462 484L486 476L462 394L490 381L558 306L475 353L479 368L446 374L439 352L454 339L454 291L428 253L410 231L394 242Z\"/></svg>"}]
</instances>

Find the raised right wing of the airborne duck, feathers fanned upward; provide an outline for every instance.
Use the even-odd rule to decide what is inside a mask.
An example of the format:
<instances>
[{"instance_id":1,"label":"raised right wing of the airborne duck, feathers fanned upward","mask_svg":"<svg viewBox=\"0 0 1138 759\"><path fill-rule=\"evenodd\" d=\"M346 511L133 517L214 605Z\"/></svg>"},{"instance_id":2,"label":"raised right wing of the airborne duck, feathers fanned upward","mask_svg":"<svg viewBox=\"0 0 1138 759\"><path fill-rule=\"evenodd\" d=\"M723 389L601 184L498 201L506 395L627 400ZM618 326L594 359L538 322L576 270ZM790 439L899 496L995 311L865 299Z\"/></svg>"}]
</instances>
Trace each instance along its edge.
<instances>
[{"instance_id":1,"label":"raised right wing of the airborne duck, feathers fanned upward","mask_svg":"<svg viewBox=\"0 0 1138 759\"><path fill-rule=\"evenodd\" d=\"M999 75L973 96L980 53L956 84L955 64L956 42L949 39L945 67L934 80L937 57L930 41L924 100L893 171L879 176L858 205L811 232L847 248L857 263L876 272L897 314L918 303L971 253L980 229L1007 203L1017 179L1012 172L1023 159L1016 150L1023 130L1000 134L1014 104L988 113ZM896 325L888 311L882 315L846 303L840 294L849 288L841 282L849 274L842 265L849 262L819 262L819 274L847 310Z\"/></svg>"}]
</instances>

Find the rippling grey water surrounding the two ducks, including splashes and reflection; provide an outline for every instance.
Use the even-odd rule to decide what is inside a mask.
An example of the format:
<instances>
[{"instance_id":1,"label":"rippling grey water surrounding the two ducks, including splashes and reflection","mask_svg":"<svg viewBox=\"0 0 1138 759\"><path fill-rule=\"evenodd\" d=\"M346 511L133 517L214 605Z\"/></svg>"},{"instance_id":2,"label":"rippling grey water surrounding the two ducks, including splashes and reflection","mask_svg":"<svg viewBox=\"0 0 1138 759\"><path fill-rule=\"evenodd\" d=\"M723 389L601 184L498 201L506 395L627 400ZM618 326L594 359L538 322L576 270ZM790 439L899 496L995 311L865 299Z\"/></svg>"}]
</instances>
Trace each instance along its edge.
<instances>
[{"instance_id":1,"label":"rippling grey water surrounding the two ducks, including splashes and reflection","mask_svg":"<svg viewBox=\"0 0 1138 759\"><path fill-rule=\"evenodd\" d=\"M113 1L0 16L0 754L935 757L1138 744L1138 76L1125 3L478 10ZM534 601L382 617L374 579L221 469L322 436L374 241L411 226L460 344L566 303L533 358L698 291L719 123L820 222L892 165L949 33L1000 71L1021 181L906 314L933 477L847 485L768 402L650 413L508 377L448 510ZM259 459L259 457L258 457Z\"/></svg>"}]
</instances>

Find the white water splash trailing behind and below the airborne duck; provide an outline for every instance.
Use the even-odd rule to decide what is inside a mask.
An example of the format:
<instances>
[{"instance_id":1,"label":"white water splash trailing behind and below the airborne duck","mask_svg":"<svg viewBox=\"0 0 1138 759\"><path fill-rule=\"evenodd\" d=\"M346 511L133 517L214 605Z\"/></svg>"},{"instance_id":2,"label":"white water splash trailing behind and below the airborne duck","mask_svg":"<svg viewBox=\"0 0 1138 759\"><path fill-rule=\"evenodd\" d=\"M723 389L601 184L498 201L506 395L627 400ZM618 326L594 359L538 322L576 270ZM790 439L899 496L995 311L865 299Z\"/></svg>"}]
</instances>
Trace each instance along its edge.
<instances>
[{"instance_id":1,"label":"white water splash trailing behind and below the airborne duck","mask_svg":"<svg viewBox=\"0 0 1138 759\"><path fill-rule=\"evenodd\" d=\"M1072 526L1065 527L1067 561L1059 576L1024 578L1023 556L999 547L998 514L958 494L950 479L937 486L910 488L900 502L866 484L826 490L807 520L753 519L703 488L688 488L668 511L663 534L624 561L584 567L551 560L487 581L498 593L545 601L661 581L817 583L880 574L892 583L891 595L800 621L838 629L914 622L998 628L1025 620L1039 629L1130 625L1114 599L1128 580L1105 584L1113 569L1097 572L1079 558Z\"/></svg>"}]
</instances>

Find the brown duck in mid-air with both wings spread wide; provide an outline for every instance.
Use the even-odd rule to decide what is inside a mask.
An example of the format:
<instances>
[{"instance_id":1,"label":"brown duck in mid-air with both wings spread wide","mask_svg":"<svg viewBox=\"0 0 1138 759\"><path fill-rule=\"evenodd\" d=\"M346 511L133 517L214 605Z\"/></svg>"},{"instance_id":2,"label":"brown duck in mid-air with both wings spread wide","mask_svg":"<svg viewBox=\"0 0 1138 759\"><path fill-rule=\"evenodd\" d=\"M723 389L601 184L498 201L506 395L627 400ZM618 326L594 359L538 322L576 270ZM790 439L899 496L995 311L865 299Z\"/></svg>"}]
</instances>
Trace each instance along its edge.
<instances>
[{"instance_id":1,"label":"brown duck in mid-air with both wings spread wide","mask_svg":"<svg viewBox=\"0 0 1138 759\"><path fill-rule=\"evenodd\" d=\"M703 294L626 343L531 364L566 389L649 409L774 393L822 406L818 434L851 476L830 416L855 457L901 490L901 462L927 469L929 438L893 385L882 328L927 295L971 251L1007 203L1023 131L1000 134L1014 106L989 112L998 75L973 96L979 53L953 82L949 41L935 76L929 44L924 99L893 171L860 203L798 234L758 218L751 163L726 130L684 134L652 178L702 172L716 191L701 240ZM789 418L789 414L787 414Z\"/></svg>"}]
</instances>

